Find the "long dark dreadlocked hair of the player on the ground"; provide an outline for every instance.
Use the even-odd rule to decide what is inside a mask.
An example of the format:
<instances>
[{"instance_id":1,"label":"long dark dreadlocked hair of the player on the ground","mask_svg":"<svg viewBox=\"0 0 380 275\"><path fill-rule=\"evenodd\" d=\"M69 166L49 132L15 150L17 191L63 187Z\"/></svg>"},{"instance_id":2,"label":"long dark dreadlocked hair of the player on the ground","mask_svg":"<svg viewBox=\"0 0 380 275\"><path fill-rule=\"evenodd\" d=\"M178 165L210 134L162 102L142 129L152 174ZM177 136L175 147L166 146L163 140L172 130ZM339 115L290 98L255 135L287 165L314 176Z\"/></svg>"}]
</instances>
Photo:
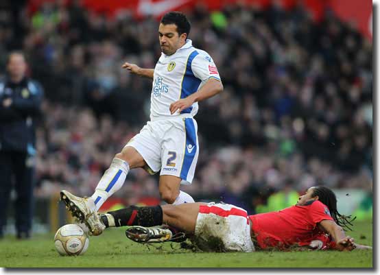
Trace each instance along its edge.
<instances>
[{"instance_id":1,"label":"long dark dreadlocked hair of the player on the ground","mask_svg":"<svg viewBox=\"0 0 380 275\"><path fill-rule=\"evenodd\" d=\"M327 187L318 186L313 188L312 196L315 197L316 195L318 195L318 200L329 208L331 217L333 217L338 226L352 230L350 226L353 226L352 222L356 217L351 218L351 215L342 215L337 211L337 198L333 191Z\"/></svg>"}]
</instances>

